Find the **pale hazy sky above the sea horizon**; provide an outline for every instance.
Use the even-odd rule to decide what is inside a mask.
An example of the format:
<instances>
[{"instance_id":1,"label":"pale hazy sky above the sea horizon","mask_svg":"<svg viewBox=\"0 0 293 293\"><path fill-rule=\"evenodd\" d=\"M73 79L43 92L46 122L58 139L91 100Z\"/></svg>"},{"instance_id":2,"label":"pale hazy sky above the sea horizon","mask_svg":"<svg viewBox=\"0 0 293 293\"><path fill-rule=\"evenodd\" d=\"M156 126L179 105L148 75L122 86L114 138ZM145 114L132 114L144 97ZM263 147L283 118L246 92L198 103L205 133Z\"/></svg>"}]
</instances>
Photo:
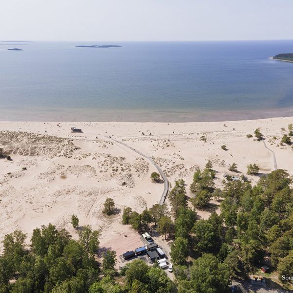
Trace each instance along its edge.
<instances>
[{"instance_id":1,"label":"pale hazy sky above the sea horizon","mask_svg":"<svg viewBox=\"0 0 293 293\"><path fill-rule=\"evenodd\" d=\"M0 0L0 40L293 39L293 0Z\"/></svg>"}]
</instances>

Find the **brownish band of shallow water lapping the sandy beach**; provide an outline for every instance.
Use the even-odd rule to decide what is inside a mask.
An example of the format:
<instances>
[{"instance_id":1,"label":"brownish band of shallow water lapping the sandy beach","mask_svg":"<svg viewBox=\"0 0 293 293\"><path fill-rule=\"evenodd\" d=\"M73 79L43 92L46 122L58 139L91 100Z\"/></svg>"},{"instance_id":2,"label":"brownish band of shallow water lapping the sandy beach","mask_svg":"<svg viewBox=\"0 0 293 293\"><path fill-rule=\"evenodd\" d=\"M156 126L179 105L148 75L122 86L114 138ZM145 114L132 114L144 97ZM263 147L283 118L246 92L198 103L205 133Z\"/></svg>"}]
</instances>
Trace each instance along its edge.
<instances>
[{"instance_id":1,"label":"brownish band of shallow water lapping the sandy beach","mask_svg":"<svg viewBox=\"0 0 293 293\"><path fill-rule=\"evenodd\" d=\"M70 110L0 110L0 121L18 122L134 122L134 123L196 123L247 121L277 117L293 117L293 107L262 110L102 110L102 109L70 109Z\"/></svg>"}]
</instances>

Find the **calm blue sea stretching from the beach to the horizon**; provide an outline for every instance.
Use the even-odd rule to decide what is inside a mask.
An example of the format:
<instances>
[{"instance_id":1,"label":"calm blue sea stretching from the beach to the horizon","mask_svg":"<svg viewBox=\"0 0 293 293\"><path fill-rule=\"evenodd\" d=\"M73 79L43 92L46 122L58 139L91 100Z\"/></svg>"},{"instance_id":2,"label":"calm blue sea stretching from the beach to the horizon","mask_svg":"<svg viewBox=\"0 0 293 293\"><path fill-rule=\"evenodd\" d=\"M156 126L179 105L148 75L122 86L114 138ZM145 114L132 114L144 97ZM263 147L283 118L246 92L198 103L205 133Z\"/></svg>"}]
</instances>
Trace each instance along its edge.
<instances>
[{"instance_id":1,"label":"calm blue sea stretching from the beach to the horizon","mask_svg":"<svg viewBox=\"0 0 293 293\"><path fill-rule=\"evenodd\" d=\"M287 52L293 41L0 42L0 120L293 116L293 63L269 59Z\"/></svg>"}]
</instances>

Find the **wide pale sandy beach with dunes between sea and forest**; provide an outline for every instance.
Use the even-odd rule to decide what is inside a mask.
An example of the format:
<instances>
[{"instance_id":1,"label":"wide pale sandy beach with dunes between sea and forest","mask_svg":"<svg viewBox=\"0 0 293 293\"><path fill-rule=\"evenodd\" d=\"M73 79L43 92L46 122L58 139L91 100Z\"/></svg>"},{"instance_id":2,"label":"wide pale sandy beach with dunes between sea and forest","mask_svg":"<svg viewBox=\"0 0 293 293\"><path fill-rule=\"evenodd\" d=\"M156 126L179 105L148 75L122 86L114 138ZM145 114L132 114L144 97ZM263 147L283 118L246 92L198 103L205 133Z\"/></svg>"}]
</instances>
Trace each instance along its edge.
<instances>
[{"instance_id":1,"label":"wide pale sandy beach with dunes between sea and forest","mask_svg":"<svg viewBox=\"0 0 293 293\"><path fill-rule=\"evenodd\" d=\"M102 248L114 249L118 255L135 249L142 244L139 235L121 224L122 212L106 217L103 203L111 197L118 209L129 206L141 212L159 202L164 185L151 182L150 174L156 168L150 162L107 136L154 157L172 185L183 178L189 186L196 167L205 167L211 159L217 171L216 186L222 187L223 175L229 173L228 165L233 162L245 174L250 163L259 165L263 173L274 169L272 152L263 142L246 137L257 127L275 152L278 168L292 175L293 149L279 145L285 134L281 127L287 129L289 123L293 123L292 117L169 124L62 122L60 127L56 122L0 122L0 147L13 159L0 159L0 241L16 229L25 231L29 241L34 228L50 222L77 238L70 224L71 215L76 214L80 225L101 230ZM84 133L71 133L72 126ZM203 135L206 143L200 140ZM228 151L221 149L224 144ZM258 180L257 176L248 177L253 183ZM207 211L198 214L209 217Z\"/></svg>"}]
</instances>

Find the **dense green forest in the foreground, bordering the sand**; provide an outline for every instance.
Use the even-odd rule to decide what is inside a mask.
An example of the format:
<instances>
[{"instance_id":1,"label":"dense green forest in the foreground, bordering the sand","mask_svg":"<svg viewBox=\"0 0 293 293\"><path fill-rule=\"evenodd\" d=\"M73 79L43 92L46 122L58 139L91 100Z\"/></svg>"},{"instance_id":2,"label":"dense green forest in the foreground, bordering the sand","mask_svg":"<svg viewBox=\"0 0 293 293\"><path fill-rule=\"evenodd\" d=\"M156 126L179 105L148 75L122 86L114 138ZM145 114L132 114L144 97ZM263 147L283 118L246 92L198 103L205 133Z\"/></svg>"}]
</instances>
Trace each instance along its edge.
<instances>
[{"instance_id":1,"label":"dense green forest in the foreground, bordering the sand","mask_svg":"<svg viewBox=\"0 0 293 293\"><path fill-rule=\"evenodd\" d=\"M234 166L235 167L235 166ZM115 251L99 253L100 231L77 229L78 240L52 224L33 230L30 246L16 230L3 240L0 256L0 293L226 293L231 279L245 280L271 261L284 286L293 275L293 189L282 169L250 181L227 181L214 186L211 162L198 169L187 196L184 180L169 191L170 208L154 205L141 214L125 208L122 223L138 231L157 227L173 240L171 261L175 281L156 263L138 259L118 272ZM211 198L220 202L220 213L199 219L196 209L208 209ZM73 225L78 219L72 218Z\"/></svg>"}]
</instances>

